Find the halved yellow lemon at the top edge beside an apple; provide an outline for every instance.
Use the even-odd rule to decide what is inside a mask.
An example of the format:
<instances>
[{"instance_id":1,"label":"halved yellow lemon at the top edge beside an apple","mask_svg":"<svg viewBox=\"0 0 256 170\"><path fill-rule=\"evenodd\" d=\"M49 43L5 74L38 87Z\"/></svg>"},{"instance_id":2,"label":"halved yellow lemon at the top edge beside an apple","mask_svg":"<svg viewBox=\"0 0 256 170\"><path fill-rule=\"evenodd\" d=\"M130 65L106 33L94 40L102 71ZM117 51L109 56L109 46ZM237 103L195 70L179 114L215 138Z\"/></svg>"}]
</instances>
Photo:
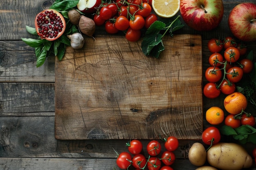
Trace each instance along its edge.
<instances>
[{"instance_id":1,"label":"halved yellow lemon at the top edge beside an apple","mask_svg":"<svg viewBox=\"0 0 256 170\"><path fill-rule=\"evenodd\" d=\"M155 13L162 18L171 18L180 10L180 0L152 0Z\"/></svg>"}]
</instances>

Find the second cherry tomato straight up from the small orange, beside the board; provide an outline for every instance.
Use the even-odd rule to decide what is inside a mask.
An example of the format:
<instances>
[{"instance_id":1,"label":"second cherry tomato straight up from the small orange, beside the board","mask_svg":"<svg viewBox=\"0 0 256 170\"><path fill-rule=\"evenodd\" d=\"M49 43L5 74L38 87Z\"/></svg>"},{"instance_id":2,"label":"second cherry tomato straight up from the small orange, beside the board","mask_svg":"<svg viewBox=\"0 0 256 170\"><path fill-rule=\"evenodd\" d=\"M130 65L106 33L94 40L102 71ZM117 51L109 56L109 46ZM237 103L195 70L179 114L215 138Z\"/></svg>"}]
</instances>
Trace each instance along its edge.
<instances>
[{"instance_id":1,"label":"second cherry tomato straight up from the small orange, beside the board","mask_svg":"<svg viewBox=\"0 0 256 170\"><path fill-rule=\"evenodd\" d=\"M220 79L222 78L222 72L220 68L218 67L214 68L214 66L208 67L204 75L209 82L213 82L213 83L220 81Z\"/></svg>"}]
</instances>

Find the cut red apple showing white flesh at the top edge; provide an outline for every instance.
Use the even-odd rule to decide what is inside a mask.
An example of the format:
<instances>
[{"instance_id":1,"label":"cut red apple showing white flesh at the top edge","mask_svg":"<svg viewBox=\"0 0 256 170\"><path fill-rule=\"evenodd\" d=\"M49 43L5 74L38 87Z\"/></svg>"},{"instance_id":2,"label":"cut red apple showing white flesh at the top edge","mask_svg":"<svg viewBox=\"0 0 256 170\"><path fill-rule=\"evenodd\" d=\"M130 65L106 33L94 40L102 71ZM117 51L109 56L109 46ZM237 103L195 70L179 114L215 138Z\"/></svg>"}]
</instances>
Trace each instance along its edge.
<instances>
[{"instance_id":1,"label":"cut red apple showing white flesh at the top edge","mask_svg":"<svg viewBox=\"0 0 256 170\"><path fill-rule=\"evenodd\" d=\"M93 13L101 4L101 0L79 0L77 9L83 13Z\"/></svg>"}]
</instances>

